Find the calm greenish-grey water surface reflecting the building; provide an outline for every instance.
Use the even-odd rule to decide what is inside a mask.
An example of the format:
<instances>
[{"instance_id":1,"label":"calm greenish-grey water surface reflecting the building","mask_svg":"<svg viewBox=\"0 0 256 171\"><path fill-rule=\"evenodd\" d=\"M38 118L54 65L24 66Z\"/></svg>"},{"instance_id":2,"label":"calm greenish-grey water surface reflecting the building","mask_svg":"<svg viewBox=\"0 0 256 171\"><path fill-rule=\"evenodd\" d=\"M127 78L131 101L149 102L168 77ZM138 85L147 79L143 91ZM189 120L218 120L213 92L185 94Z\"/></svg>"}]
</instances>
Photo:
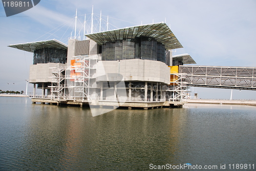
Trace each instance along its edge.
<instances>
[{"instance_id":1,"label":"calm greenish-grey water surface reflecting the building","mask_svg":"<svg viewBox=\"0 0 256 171\"><path fill-rule=\"evenodd\" d=\"M184 163L218 165L215 170L254 164L246 170L256 170L255 106L186 104L92 117L89 108L0 97L0 110L0 170L150 170L150 164Z\"/></svg>"}]
</instances>

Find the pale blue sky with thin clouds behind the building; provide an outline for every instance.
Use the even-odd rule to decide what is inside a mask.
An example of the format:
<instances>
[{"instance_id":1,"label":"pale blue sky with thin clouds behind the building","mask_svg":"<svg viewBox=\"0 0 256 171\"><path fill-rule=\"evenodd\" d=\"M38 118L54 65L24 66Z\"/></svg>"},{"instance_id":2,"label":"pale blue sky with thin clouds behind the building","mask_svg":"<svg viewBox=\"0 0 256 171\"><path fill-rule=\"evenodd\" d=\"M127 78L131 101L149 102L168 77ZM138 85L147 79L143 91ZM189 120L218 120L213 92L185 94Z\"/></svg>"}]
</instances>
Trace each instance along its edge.
<instances>
[{"instance_id":1,"label":"pale blue sky with thin clouds behind the building","mask_svg":"<svg viewBox=\"0 0 256 171\"><path fill-rule=\"evenodd\" d=\"M29 78L33 62L32 53L8 45L53 38L67 43L71 31L74 34L76 9L79 30L84 14L88 19L91 16L92 6L95 16L102 11L106 20L109 15L111 29L149 24L153 19L154 23L166 20L184 47L174 55L188 53L197 65L256 67L254 0L41 0L34 8L10 17L6 17L0 5L0 89L25 91L25 79ZM200 98L230 98L230 90L225 89L191 88L190 91L198 93ZM256 91L233 91L233 98L237 99L255 99L255 96Z\"/></svg>"}]
</instances>

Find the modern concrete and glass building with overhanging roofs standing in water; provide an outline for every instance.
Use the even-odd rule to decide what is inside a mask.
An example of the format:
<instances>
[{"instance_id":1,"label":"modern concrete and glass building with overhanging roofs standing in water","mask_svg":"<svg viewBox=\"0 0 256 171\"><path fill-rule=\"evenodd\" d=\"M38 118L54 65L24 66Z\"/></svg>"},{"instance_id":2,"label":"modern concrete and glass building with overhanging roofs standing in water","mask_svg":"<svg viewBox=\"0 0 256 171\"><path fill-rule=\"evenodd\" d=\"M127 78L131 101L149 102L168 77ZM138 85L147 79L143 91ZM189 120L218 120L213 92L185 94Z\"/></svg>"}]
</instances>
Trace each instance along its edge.
<instances>
[{"instance_id":1,"label":"modern concrete and glass building with overhanging roofs standing in water","mask_svg":"<svg viewBox=\"0 0 256 171\"><path fill-rule=\"evenodd\" d=\"M9 46L34 53L32 102L144 109L184 104L186 74L178 66L196 62L188 54L172 55L182 45L165 23L86 37L68 45L52 39Z\"/></svg>"}]
</instances>

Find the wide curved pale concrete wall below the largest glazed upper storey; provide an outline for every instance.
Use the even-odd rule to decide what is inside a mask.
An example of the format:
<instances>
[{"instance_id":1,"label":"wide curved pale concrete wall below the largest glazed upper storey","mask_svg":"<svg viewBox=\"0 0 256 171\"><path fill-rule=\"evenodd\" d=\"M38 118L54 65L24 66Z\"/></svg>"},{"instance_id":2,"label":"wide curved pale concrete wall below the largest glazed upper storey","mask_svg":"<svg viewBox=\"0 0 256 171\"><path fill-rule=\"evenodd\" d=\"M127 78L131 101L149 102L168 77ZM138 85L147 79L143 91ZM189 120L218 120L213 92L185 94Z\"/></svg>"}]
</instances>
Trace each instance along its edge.
<instances>
[{"instance_id":1,"label":"wide curved pale concrete wall below the largest glazed upper storey","mask_svg":"<svg viewBox=\"0 0 256 171\"><path fill-rule=\"evenodd\" d=\"M126 59L119 61L99 61L97 81L112 81L108 74L121 74L124 81L155 81L169 83L169 68L165 63L155 60ZM109 77L110 78L110 77ZM113 81L114 78L113 78Z\"/></svg>"}]
</instances>

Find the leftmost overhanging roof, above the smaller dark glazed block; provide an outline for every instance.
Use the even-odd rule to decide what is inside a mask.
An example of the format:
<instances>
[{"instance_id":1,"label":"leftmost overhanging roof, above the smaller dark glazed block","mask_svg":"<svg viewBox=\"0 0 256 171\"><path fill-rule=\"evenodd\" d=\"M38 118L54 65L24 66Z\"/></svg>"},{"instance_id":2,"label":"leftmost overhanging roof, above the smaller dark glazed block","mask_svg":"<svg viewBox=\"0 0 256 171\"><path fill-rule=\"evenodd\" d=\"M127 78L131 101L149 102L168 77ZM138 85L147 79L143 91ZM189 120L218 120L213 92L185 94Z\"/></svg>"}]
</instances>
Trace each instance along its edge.
<instances>
[{"instance_id":1,"label":"leftmost overhanging roof, above the smaller dark glazed block","mask_svg":"<svg viewBox=\"0 0 256 171\"><path fill-rule=\"evenodd\" d=\"M16 48L27 52L34 52L36 49L42 48L68 49L68 46L66 44L63 44L62 42L56 39L28 42L26 44L15 44L9 45L8 47Z\"/></svg>"}]
</instances>

